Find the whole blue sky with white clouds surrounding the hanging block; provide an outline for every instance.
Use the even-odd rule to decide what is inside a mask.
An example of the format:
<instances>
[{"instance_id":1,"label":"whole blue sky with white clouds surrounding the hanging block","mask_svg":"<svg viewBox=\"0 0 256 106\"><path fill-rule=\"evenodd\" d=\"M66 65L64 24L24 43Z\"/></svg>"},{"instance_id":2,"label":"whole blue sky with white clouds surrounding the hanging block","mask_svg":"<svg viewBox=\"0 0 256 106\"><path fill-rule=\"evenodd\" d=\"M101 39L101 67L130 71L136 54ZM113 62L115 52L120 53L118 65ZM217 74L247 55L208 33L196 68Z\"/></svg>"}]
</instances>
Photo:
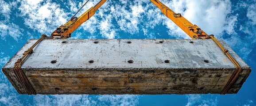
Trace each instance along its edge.
<instances>
[{"instance_id":1,"label":"whole blue sky with white clouds surrounding the hanging block","mask_svg":"<svg viewBox=\"0 0 256 106\"><path fill-rule=\"evenodd\" d=\"M82 9L97 4L90 0ZM256 0L160 0L224 41L252 68L234 95L19 95L0 72L0 106L255 106ZM85 0L0 0L0 67L31 38L50 35ZM80 12L78 15L81 15ZM189 38L150 0L108 0L72 38Z\"/></svg>"}]
</instances>

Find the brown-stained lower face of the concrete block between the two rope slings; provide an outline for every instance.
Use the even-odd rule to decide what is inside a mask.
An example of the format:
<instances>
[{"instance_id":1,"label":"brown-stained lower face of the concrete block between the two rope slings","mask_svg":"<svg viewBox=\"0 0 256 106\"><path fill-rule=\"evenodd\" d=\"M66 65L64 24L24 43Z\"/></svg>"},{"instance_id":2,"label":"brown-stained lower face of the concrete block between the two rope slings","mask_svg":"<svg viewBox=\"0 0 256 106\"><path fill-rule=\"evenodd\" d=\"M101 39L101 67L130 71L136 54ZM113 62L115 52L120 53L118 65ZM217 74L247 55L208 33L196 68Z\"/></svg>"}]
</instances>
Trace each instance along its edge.
<instances>
[{"instance_id":1,"label":"brown-stained lower face of the concrete block between the two rope slings","mask_svg":"<svg viewBox=\"0 0 256 106\"><path fill-rule=\"evenodd\" d=\"M219 94L226 75L218 70L70 70L27 76L39 94ZM72 73L73 72L73 73ZM201 72L198 74L198 72ZM59 74L62 73L62 76ZM28 74L28 73L26 73ZM37 76L37 77L36 77ZM208 78L212 76L212 78ZM43 89L41 88L43 87Z\"/></svg>"}]
</instances>

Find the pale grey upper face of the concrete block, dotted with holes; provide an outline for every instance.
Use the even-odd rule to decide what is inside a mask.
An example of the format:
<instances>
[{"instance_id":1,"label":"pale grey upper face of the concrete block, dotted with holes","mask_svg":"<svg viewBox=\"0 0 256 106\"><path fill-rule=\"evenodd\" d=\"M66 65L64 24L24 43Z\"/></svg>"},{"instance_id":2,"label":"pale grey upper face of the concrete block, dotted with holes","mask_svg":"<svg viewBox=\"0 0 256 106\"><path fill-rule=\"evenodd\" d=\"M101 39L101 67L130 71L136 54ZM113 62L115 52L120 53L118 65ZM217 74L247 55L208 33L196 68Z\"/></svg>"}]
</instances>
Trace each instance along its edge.
<instances>
[{"instance_id":1,"label":"pale grey upper face of the concrete block, dotted with holes","mask_svg":"<svg viewBox=\"0 0 256 106\"><path fill-rule=\"evenodd\" d=\"M4 66L13 68L31 39ZM221 44L243 69L249 66ZM177 68L235 68L213 40L192 39L45 39L22 65L23 69L130 70Z\"/></svg>"}]
</instances>

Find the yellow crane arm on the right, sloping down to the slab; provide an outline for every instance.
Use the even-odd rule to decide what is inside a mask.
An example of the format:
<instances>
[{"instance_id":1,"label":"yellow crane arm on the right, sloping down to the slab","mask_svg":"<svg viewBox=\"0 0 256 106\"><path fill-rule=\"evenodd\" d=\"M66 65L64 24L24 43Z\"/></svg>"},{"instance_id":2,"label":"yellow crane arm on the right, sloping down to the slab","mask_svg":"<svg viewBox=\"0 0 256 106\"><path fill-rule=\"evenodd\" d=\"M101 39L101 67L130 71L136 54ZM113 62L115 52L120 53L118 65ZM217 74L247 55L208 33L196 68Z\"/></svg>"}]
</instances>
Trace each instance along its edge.
<instances>
[{"instance_id":1,"label":"yellow crane arm on the right, sloping down to the slab","mask_svg":"<svg viewBox=\"0 0 256 106\"><path fill-rule=\"evenodd\" d=\"M159 0L151 0L153 4L158 7L164 15L171 19L178 27L180 27L186 34L192 39L203 39L209 38L207 34L201 30L197 25L193 25L188 20L186 20L180 13L175 13L166 5L161 3Z\"/></svg>"}]
</instances>

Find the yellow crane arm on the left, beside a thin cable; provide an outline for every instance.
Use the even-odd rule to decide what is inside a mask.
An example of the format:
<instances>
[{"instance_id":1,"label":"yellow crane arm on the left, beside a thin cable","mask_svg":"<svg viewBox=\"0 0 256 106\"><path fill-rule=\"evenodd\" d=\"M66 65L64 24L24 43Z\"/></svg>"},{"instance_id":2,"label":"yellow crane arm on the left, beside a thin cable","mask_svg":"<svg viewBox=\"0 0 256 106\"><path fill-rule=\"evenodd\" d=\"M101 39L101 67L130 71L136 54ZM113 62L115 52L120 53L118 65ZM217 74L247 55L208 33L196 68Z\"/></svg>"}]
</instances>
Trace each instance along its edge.
<instances>
[{"instance_id":1,"label":"yellow crane arm on the left, beside a thin cable","mask_svg":"<svg viewBox=\"0 0 256 106\"><path fill-rule=\"evenodd\" d=\"M54 38L70 38L71 33L74 32L82 23L90 19L97 11L98 8L101 7L105 3L106 0L101 0L98 4L94 7L91 7L87 10L84 14L79 16L78 18L72 17L67 23L57 27L57 29L51 34L51 37Z\"/></svg>"}]
</instances>

